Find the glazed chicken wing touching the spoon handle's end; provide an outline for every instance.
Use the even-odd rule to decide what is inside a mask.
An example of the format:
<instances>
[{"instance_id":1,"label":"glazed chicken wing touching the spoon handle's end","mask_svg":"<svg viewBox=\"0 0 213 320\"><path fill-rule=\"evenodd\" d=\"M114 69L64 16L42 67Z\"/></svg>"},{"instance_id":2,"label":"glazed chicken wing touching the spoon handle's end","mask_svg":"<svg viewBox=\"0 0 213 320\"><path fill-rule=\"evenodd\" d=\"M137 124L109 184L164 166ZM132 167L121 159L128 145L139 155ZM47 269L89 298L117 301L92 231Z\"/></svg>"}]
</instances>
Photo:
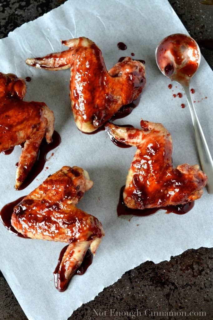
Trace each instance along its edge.
<instances>
[{"instance_id":1,"label":"glazed chicken wing touching the spoon handle's end","mask_svg":"<svg viewBox=\"0 0 213 320\"><path fill-rule=\"evenodd\" d=\"M198 165L172 167L172 138L160 123L141 120L142 130L106 124L118 141L137 147L123 192L131 209L186 204L201 197L207 176Z\"/></svg>"}]
</instances>

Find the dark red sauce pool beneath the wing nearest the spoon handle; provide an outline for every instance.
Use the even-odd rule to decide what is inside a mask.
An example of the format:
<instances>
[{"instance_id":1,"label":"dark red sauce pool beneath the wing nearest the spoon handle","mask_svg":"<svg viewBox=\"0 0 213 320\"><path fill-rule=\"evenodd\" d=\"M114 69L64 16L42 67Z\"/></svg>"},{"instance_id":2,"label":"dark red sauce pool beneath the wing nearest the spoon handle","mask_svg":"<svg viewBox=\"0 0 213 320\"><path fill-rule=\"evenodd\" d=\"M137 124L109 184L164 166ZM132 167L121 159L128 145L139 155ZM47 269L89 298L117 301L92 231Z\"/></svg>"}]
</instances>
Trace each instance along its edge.
<instances>
[{"instance_id":1,"label":"dark red sauce pool beneath the wing nearest the spoon handle","mask_svg":"<svg viewBox=\"0 0 213 320\"><path fill-rule=\"evenodd\" d=\"M176 213L176 214L185 214L187 212L189 212L193 206L194 206L194 201L193 202L189 202L187 204L178 204L178 205L169 205L169 206L165 206L165 207L158 207L158 208L150 208L150 209L130 209L128 208L123 201L123 190L124 190L125 186L123 186L120 190L120 197L119 197L119 202L117 205L117 214L118 216L121 215L133 215L133 216L138 216L138 217L146 217L149 216L151 214L154 214L155 212L157 212L158 210L165 210L166 213Z\"/></svg>"}]
</instances>

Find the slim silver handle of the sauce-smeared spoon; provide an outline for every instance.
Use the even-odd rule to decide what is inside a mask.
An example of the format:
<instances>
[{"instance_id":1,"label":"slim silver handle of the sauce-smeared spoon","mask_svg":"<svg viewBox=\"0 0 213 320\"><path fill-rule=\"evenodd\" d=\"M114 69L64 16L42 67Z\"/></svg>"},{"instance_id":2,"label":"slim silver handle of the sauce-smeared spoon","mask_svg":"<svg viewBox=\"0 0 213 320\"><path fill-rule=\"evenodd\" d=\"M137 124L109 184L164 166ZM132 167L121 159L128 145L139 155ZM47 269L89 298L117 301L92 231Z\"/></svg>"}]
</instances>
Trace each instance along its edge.
<instances>
[{"instance_id":1,"label":"slim silver handle of the sauce-smeared spoon","mask_svg":"<svg viewBox=\"0 0 213 320\"><path fill-rule=\"evenodd\" d=\"M201 124L198 120L192 97L190 94L189 86L183 86L186 98L189 104L189 110L192 116L192 122L194 127L194 135L197 144L198 155L200 158L201 168L206 173L207 180L207 191L209 194L213 194L213 161L207 145L204 133L201 128Z\"/></svg>"}]
</instances>

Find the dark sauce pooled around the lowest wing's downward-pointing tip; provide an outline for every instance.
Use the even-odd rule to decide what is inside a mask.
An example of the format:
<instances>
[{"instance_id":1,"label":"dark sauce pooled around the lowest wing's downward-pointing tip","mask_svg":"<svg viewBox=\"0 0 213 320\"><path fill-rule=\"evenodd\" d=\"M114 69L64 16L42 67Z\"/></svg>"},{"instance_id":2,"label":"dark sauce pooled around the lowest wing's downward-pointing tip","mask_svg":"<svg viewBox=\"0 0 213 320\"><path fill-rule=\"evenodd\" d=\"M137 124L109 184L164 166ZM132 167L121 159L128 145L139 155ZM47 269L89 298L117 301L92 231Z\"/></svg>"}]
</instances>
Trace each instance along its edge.
<instances>
[{"instance_id":1,"label":"dark sauce pooled around the lowest wing's downward-pointing tip","mask_svg":"<svg viewBox=\"0 0 213 320\"><path fill-rule=\"evenodd\" d=\"M61 250L60 255L59 255L59 260L58 260L58 264L55 268L55 271L53 272L54 275L54 281L55 281L55 287L59 290L59 291L65 291L67 289L67 279L65 278L65 274L63 272L59 272L59 267L62 261L62 258L64 256L64 253L66 252L68 247L68 244ZM75 275L83 275L87 268L91 265L92 263L92 253L90 251L90 249L87 250L83 262L81 264L81 266L75 271Z\"/></svg>"}]
</instances>

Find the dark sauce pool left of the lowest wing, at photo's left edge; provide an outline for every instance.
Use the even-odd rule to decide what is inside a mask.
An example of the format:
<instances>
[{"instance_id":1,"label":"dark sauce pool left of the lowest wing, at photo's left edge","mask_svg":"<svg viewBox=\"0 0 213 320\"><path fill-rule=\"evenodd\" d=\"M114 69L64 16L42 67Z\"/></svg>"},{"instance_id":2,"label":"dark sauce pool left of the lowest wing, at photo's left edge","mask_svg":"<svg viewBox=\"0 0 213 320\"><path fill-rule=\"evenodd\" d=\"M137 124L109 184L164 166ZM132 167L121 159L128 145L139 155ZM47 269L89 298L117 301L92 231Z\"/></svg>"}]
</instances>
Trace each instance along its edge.
<instances>
[{"instance_id":1,"label":"dark sauce pool left of the lowest wing, at photo's left edge","mask_svg":"<svg viewBox=\"0 0 213 320\"><path fill-rule=\"evenodd\" d=\"M8 204L5 204L5 206L0 211L0 217L2 220L2 223L4 224L4 227L11 233L15 234L16 236L19 236L21 238L28 238L27 236L22 235L18 231L16 231L15 228L13 228L11 224L11 217L13 213L13 208L20 203L25 196L20 197L19 199L12 201Z\"/></svg>"}]
</instances>

